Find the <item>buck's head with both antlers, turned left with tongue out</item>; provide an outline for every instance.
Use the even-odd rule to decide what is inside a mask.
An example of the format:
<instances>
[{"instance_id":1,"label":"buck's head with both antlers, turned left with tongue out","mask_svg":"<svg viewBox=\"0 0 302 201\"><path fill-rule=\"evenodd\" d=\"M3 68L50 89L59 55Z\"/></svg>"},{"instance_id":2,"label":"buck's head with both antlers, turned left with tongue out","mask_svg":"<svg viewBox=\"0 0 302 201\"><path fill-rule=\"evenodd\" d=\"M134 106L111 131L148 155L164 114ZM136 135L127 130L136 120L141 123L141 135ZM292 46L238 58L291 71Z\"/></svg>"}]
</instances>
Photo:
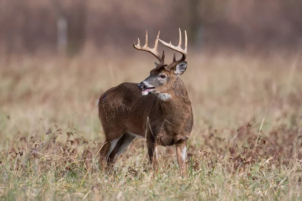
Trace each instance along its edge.
<instances>
[{"instance_id":1,"label":"buck's head with both antlers, turned left with tongue out","mask_svg":"<svg viewBox=\"0 0 302 201\"><path fill-rule=\"evenodd\" d=\"M147 95L150 93L158 94L161 99L169 99L170 94L169 91L172 90L174 87L174 83L176 82L177 78L182 75L187 68L187 62L185 61L187 56L187 33L185 31L185 49L181 48L181 31L179 29L179 43L178 46L173 46L170 43L167 43L165 41L162 41L159 39L160 32L157 36L157 39L155 41L155 46L153 49L148 47L148 36L146 32L146 39L145 39L145 45L140 46L139 39L138 44L135 45L133 43L133 47L137 50L144 50L151 54L153 54L155 57L158 58L160 63L155 63L155 68L150 71L150 75L144 79L142 82L140 82L137 86L139 89L141 89L142 95ZM162 56L157 51L158 47L158 41L160 41L164 46L169 47L170 49L174 50L174 57L173 62L169 65L165 64L165 52L163 51ZM182 58L179 60L176 60L175 51L182 54Z\"/></svg>"}]
</instances>

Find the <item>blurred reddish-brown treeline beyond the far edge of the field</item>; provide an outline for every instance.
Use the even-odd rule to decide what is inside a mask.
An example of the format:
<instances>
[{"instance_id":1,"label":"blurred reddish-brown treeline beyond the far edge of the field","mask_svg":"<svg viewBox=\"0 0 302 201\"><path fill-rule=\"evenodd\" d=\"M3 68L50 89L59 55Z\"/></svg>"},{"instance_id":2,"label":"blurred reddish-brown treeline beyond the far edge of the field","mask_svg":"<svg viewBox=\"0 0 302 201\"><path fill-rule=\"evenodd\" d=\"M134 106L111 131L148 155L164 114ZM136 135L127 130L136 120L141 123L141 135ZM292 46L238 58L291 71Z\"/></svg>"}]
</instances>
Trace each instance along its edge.
<instances>
[{"instance_id":1,"label":"blurred reddish-brown treeline beyond the far edge of the field","mask_svg":"<svg viewBox=\"0 0 302 201\"><path fill-rule=\"evenodd\" d=\"M146 29L149 38L161 30L173 41L178 27L187 30L190 49L296 51L301 8L300 0L0 1L0 51L75 56L115 46L128 54Z\"/></svg>"}]
</instances>

